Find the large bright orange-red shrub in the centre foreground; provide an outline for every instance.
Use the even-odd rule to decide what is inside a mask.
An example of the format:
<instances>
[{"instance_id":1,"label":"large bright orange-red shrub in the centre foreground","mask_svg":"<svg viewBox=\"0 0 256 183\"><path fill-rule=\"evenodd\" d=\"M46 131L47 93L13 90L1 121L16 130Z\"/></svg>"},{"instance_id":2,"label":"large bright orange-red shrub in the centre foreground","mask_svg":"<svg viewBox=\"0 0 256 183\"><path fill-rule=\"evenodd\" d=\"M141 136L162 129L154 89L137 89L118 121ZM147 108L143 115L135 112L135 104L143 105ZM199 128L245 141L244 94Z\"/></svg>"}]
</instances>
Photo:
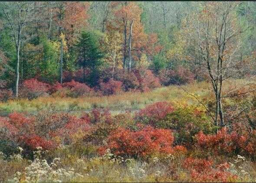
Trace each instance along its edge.
<instances>
[{"instance_id":1,"label":"large bright orange-red shrub in the centre foreground","mask_svg":"<svg viewBox=\"0 0 256 183\"><path fill-rule=\"evenodd\" d=\"M170 130L145 127L140 131L130 131L118 128L108 137L108 145L112 153L120 156L141 156L152 153L170 154L173 152L172 143L174 137ZM100 149L100 153L104 148Z\"/></svg>"}]
</instances>

